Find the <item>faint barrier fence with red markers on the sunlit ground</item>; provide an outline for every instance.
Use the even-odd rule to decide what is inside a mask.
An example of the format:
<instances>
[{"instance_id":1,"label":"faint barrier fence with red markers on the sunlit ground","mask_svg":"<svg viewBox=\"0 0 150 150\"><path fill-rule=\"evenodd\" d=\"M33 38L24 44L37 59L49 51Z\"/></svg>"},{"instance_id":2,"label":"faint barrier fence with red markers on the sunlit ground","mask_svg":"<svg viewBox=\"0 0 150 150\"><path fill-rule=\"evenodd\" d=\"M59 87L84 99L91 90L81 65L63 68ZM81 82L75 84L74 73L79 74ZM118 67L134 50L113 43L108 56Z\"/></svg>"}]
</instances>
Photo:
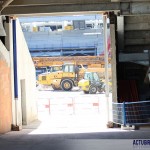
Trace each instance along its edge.
<instances>
[{"instance_id":1,"label":"faint barrier fence with red markers on the sunlit ground","mask_svg":"<svg viewBox=\"0 0 150 150\"><path fill-rule=\"evenodd\" d=\"M38 112L46 115L53 114L88 114L99 113L99 97L58 97L58 98L40 98L37 101Z\"/></svg>"}]
</instances>

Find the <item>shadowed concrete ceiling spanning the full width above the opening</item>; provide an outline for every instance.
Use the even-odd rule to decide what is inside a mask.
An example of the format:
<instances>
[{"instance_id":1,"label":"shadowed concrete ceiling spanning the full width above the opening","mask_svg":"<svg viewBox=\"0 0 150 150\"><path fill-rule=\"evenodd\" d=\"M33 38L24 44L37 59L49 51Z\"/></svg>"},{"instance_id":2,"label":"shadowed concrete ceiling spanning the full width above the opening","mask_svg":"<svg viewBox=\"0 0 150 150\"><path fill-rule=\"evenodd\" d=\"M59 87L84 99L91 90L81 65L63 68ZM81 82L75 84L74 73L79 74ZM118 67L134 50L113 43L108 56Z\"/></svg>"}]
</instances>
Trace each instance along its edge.
<instances>
[{"instance_id":1,"label":"shadowed concrete ceiling spanning the full width above the opening","mask_svg":"<svg viewBox=\"0 0 150 150\"><path fill-rule=\"evenodd\" d=\"M150 0L0 0L2 15L120 11L149 14Z\"/></svg>"}]
</instances>

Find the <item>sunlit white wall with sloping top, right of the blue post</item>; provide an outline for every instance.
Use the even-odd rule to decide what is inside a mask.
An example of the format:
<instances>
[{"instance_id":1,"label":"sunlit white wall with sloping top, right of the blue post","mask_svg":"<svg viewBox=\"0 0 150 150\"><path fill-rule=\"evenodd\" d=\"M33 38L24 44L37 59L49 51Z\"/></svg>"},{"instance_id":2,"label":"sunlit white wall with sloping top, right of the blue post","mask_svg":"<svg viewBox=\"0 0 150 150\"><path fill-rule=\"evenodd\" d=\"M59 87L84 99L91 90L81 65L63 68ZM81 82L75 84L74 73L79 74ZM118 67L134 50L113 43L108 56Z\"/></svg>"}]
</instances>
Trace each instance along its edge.
<instances>
[{"instance_id":1,"label":"sunlit white wall with sloping top, right of the blue post","mask_svg":"<svg viewBox=\"0 0 150 150\"><path fill-rule=\"evenodd\" d=\"M17 58L18 58L18 100L13 101L13 107L17 105L17 120L13 111L13 124L21 126L37 119L36 108L36 78L35 67L32 62L19 21L17 28ZM11 54L12 55L12 54Z\"/></svg>"}]
</instances>

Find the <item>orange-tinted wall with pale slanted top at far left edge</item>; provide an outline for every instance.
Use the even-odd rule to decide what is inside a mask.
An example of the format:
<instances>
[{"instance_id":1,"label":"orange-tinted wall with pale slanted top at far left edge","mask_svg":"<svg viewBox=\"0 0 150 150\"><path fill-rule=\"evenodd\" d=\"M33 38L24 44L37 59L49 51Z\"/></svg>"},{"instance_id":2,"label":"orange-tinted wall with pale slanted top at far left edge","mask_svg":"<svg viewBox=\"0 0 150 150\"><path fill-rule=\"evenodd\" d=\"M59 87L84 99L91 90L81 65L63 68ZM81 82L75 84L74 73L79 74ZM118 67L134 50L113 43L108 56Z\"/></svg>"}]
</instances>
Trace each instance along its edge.
<instances>
[{"instance_id":1,"label":"orange-tinted wall with pale slanted top at far left edge","mask_svg":"<svg viewBox=\"0 0 150 150\"><path fill-rule=\"evenodd\" d=\"M0 133L11 130L12 101L9 52L0 41Z\"/></svg>"}]
</instances>

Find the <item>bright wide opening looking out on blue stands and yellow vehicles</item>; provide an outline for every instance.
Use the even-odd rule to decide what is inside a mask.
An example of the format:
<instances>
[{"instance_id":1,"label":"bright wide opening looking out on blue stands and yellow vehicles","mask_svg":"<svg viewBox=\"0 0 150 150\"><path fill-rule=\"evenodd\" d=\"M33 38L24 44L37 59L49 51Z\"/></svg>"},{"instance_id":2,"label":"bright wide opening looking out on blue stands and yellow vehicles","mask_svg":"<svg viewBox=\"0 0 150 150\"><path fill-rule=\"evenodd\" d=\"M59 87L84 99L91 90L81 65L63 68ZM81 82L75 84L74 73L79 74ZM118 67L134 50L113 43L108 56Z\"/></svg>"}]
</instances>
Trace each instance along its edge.
<instances>
[{"instance_id":1,"label":"bright wide opening looking out on blue stands and yellow vehicles","mask_svg":"<svg viewBox=\"0 0 150 150\"><path fill-rule=\"evenodd\" d=\"M108 112L105 101L102 16L85 14L49 16L43 17L42 21L37 19L40 20L41 17L20 18L20 22L36 67L38 119L42 122L39 129L45 130L46 133L98 132L106 129ZM106 35L110 44L109 22L107 25ZM110 58L110 49L108 55ZM62 66L60 70L52 71L53 66L59 68L59 65ZM76 80L75 65L78 65L79 70L84 69L80 80ZM110 60L109 69L111 86ZM94 89L85 92L76 84L85 79L85 73L91 73L93 76L98 73L100 83L95 84L95 89L98 91L98 87L103 83L99 92L92 93ZM55 78L50 81L52 74ZM90 77L88 79L91 87L93 81ZM109 112L112 112L111 100L110 90ZM112 115L109 115L111 118ZM37 125L38 122L34 123L33 127L37 128Z\"/></svg>"}]
</instances>

